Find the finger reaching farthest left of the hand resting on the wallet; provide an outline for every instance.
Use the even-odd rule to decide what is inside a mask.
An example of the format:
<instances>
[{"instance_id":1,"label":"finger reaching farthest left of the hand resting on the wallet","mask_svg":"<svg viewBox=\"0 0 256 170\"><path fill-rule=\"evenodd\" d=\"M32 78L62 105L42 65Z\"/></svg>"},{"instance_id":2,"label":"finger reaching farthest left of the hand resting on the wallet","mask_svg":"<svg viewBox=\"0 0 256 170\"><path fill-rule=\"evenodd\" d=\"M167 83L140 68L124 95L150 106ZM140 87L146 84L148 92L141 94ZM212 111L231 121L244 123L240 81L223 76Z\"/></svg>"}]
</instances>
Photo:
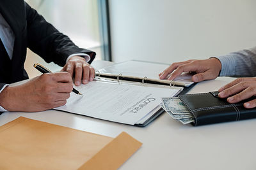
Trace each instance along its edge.
<instances>
[{"instance_id":1,"label":"finger reaching farthest left of the hand resting on the wallet","mask_svg":"<svg viewBox=\"0 0 256 170\"><path fill-rule=\"evenodd\" d=\"M221 98L232 96L232 95L237 94L238 92L241 92L242 90L250 87L251 85L252 85L252 81L242 81L240 83L233 85L232 87L230 87L228 89L221 91L218 94L218 96Z\"/></svg>"}]
</instances>

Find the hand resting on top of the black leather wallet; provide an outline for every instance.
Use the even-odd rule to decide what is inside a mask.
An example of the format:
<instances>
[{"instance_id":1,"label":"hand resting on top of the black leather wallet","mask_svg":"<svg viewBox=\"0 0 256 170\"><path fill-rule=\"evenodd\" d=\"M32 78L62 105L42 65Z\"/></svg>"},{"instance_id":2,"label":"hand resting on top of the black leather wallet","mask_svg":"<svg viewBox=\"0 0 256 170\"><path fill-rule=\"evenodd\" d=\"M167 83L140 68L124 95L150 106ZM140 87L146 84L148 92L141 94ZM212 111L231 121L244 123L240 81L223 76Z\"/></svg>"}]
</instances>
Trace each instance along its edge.
<instances>
[{"instance_id":1,"label":"hand resting on top of the black leather wallet","mask_svg":"<svg viewBox=\"0 0 256 170\"><path fill-rule=\"evenodd\" d=\"M256 96L256 78L237 78L221 87L219 97L227 98L228 103L237 103ZM256 99L244 103L244 108L255 108Z\"/></svg>"}]
</instances>

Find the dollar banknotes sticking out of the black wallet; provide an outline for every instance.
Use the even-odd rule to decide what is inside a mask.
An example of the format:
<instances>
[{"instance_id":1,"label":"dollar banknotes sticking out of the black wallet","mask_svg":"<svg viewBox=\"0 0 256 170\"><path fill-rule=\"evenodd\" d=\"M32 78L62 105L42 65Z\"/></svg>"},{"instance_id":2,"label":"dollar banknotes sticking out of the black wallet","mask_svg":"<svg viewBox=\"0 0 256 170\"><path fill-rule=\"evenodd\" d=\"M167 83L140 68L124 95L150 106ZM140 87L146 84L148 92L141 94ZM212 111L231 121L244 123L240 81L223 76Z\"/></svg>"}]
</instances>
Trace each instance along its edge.
<instances>
[{"instance_id":1,"label":"dollar banknotes sticking out of the black wallet","mask_svg":"<svg viewBox=\"0 0 256 170\"><path fill-rule=\"evenodd\" d=\"M175 120L186 125L194 122L194 118L179 97L163 97L161 107Z\"/></svg>"}]
</instances>

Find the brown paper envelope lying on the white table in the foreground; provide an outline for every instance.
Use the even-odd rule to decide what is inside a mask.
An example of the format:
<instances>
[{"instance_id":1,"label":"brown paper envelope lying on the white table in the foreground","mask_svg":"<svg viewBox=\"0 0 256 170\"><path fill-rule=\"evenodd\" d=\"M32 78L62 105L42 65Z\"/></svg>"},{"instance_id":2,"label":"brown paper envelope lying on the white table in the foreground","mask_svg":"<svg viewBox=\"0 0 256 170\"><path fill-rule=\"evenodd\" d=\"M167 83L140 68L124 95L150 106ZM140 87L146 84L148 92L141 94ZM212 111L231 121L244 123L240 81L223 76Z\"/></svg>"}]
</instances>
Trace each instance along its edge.
<instances>
[{"instance_id":1,"label":"brown paper envelope lying on the white table in the foreground","mask_svg":"<svg viewBox=\"0 0 256 170\"><path fill-rule=\"evenodd\" d=\"M141 145L19 117L0 127L0 169L117 169Z\"/></svg>"}]
</instances>

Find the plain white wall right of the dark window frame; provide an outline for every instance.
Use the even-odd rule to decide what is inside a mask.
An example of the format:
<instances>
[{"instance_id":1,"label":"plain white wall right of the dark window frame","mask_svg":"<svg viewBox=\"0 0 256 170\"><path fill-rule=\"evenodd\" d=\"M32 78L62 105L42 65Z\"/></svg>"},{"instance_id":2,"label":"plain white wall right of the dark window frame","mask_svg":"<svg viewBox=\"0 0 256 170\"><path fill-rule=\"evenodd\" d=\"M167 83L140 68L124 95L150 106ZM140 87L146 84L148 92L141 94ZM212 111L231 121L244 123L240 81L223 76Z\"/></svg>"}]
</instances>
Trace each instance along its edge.
<instances>
[{"instance_id":1,"label":"plain white wall right of the dark window frame","mask_svg":"<svg viewBox=\"0 0 256 170\"><path fill-rule=\"evenodd\" d=\"M113 61L172 63L256 45L255 0L109 0Z\"/></svg>"}]
</instances>

